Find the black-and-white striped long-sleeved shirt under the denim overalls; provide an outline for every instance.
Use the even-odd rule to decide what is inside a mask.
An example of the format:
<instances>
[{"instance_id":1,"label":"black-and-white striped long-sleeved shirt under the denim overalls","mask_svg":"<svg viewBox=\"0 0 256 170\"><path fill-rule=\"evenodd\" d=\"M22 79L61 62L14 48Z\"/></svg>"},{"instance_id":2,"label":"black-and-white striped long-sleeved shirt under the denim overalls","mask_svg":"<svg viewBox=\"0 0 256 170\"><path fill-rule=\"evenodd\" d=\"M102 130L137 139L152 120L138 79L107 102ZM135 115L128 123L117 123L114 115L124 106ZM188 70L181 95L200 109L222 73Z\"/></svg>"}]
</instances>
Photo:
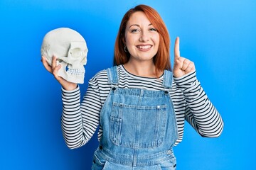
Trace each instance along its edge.
<instances>
[{"instance_id":1,"label":"black-and-white striped long-sleeved shirt under the denim overalls","mask_svg":"<svg viewBox=\"0 0 256 170\"><path fill-rule=\"evenodd\" d=\"M163 75L159 79L138 77L127 72L122 65L117 66L119 88L163 90ZM100 125L100 111L110 93L107 70L98 72L89 81L89 86L80 102L79 86L73 91L62 89L63 113L61 126L63 137L70 149L85 145ZM169 89L174 104L178 126L178 145L183 138L185 120L203 137L218 137L223 130L223 120L209 101L196 71L175 78ZM98 140L102 137L102 127L98 131Z\"/></svg>"}]
</instances>

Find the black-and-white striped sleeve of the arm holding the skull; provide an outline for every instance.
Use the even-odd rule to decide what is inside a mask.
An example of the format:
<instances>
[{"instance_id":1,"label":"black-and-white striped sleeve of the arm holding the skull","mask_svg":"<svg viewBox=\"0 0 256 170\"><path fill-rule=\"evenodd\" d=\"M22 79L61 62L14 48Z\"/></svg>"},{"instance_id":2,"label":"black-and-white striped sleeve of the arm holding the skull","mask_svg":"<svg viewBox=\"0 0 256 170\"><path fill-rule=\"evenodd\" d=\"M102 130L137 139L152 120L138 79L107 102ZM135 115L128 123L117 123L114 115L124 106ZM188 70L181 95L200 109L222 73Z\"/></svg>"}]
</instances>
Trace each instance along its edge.
<instances>
[{"instance_id":1,"label":"black-and-white striped sleeve of the arm holding the skull","mask_svg":"<svg viewBox=\"0 0 256 170\"><path fill-rule=\"evenodd\" d=\"M89 86L80 104L80 89L62 89L63 113L61 127L63 137L70 149L85 145L99 124L101 103L97 92Z\"/></svg>"}]
</instances>

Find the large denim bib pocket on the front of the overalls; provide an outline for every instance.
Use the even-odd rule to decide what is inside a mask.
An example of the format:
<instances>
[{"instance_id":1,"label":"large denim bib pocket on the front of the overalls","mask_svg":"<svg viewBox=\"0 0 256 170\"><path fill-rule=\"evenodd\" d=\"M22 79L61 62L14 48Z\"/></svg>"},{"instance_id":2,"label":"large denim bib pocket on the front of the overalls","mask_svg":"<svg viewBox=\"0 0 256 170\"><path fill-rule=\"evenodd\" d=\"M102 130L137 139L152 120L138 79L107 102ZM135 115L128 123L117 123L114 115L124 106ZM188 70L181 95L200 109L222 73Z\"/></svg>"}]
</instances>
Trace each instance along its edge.
<instances>
[{"instance_id":1,"label":"large denim bib pocket on the front of the overalls","mask_svg":"<svg viewBox=\"0 0 256 170\"><path fill-rule=\"evenodd\" d=\"M114 145L134 149L159 147L165 130L166 105L112 105L110 140Z\"/></svg>"}]
</instances>

